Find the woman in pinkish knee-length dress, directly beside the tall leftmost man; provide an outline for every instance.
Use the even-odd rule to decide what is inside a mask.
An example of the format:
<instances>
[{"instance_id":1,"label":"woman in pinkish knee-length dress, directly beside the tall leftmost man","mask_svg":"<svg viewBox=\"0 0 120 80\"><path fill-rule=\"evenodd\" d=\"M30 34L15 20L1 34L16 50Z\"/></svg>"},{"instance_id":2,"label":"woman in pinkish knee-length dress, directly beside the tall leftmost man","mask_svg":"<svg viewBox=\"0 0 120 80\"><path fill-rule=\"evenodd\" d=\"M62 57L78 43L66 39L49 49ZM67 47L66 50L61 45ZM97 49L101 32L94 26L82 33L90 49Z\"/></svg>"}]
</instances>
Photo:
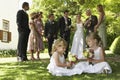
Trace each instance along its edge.
<instances>
[{"instance_id":1,"label":"woman in pinkish knee-length dress, directly beside the tall leftmost man","mask_svg":"<svg viewBox=\"0 0 120 80\"><path fill-rule=\"evenodd\" d=\"M30 21L30 35L29 35L29 39L28 39L28 52L31 54L31 58L30 60L35 60L34 58L34 54L38 47L37 47L37 29L36 29L36 26L35 26L35 22L34 20L36 19L36 13L33 12L30 14L30 17L31 17L31 21Z\"/></svg>"}]
</instances>

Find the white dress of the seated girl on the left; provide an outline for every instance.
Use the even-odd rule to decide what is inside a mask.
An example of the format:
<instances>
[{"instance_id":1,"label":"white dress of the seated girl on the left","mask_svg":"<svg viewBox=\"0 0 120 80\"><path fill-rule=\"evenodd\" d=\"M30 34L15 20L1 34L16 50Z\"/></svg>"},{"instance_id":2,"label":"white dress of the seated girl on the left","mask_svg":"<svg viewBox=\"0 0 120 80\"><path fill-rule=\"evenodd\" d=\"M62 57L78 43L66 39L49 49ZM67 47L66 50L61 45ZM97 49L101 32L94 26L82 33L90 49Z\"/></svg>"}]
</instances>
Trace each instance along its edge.
<instances>
[{"instance_id":1,"label":"white dress of the seated girl on the left","mask_svg":"<svg viewBox=\"0 0 120 80\"><path fill-rule=\"evenodd\" d=\"M53 56L58 55L57 52L54 52L54 54L52 55L52 57L50 58L50 63L47 66L48 71L55 76L72 76L75 74L81 74L82 70L79 68L72 68L72 69L67 69L67 67L59 67L56 65L55 63L55 58ZM65 58L64 55L63 56L59 56L59 61L61 63L65 62Z\"/></svg>"}]
</instances>

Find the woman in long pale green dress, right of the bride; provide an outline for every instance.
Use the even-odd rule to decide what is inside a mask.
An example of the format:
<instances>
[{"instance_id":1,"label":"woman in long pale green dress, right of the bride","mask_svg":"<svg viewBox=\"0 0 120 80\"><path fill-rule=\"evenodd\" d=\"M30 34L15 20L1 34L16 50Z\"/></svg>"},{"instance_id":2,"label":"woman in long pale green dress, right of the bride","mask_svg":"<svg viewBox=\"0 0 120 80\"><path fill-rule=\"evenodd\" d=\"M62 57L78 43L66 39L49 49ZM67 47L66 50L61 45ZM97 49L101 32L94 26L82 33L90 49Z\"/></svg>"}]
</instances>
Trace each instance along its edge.
<instances>
[{"instance_id":1,"label":"woman in long pale green dress, right of the bride","mask_svg":"<svg viewBox=\"0 0 120 80\"><path fill-rule=\"evenodd\" d=\"M98 23L95 26L95 32L98 29L98 34L103 42L103 47L106 48L107 40L106 40L105 12L101 4L97 5L97 10L99 12L99 18L98 18Z\"/></svg>"}]
</instances>

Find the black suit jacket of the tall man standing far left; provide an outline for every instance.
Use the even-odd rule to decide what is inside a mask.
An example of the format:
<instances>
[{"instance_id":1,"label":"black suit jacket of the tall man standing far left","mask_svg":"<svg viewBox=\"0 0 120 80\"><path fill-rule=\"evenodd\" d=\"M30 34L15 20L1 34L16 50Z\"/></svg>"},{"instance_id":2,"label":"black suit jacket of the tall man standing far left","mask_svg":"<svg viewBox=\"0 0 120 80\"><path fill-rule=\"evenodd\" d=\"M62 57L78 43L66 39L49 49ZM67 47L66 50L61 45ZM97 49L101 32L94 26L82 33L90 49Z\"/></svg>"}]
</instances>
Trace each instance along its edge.
<instances>
[{"instance_id":1,"label":"black suit jacket of the tall man standing far left","mask_svg":"<svg viewBox=\"0 0 120 80\"><path fill-rule=\"evenodd\" d=\"M29 32L29 18L28 14L24 10L19 10L17 12L17 25L19 32Z\"/></svg>"}]
</instances>

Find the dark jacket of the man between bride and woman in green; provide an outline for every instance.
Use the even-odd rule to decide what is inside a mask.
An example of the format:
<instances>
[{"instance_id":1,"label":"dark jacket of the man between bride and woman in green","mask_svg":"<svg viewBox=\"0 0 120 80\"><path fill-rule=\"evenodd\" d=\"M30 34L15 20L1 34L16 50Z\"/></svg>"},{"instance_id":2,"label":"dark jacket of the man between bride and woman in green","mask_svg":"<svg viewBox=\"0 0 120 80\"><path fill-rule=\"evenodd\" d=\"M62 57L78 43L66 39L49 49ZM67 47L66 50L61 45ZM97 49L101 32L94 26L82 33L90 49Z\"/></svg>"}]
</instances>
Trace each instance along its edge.
<instances>
[{"instance_id":1,"label":"dark jacket of the man between bride and woman in green","mask_svg":"<svg viewBox=\"0 0 120 80\"><path fill-rule=\"evenodd\" d=\"M86 21L90 21L90 23L84 25L85 28L87 29L87 32L94 32L94 27L98 23L97 16L91 15L89 18L86 19Z\"/></svg>"}]
</instances>

